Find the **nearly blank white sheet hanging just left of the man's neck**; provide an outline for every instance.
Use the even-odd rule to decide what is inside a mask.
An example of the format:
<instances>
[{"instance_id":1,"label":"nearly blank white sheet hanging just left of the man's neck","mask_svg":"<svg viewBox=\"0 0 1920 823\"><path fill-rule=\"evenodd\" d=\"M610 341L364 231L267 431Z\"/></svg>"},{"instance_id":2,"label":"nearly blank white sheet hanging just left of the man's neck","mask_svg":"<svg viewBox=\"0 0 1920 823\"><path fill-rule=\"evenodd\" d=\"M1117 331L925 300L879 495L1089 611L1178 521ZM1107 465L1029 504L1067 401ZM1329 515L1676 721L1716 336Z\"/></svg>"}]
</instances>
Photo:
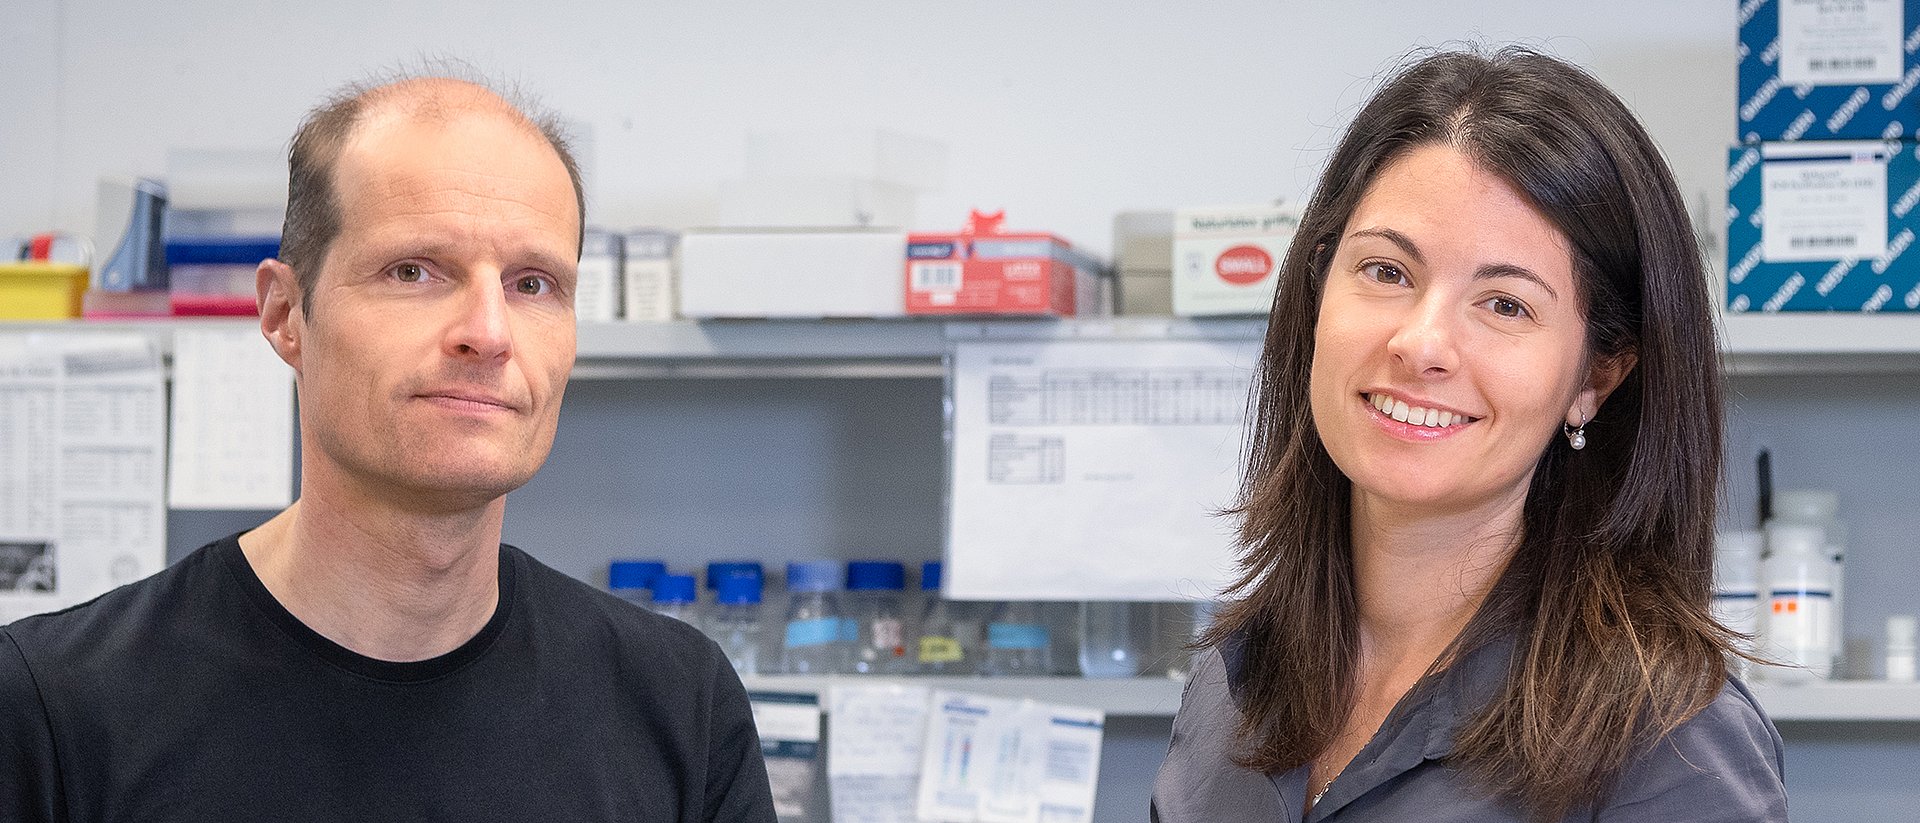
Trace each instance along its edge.
<instances>
[{"instance_id":1,"label":"nearly blank white sheet hanging just left of the man's neck","mask_svg":"<svg viewBox=\"0 0 1920 823\"><path fill-rule=\"evenodd\" d=\"M173 508L294 503L294 370L259 328L173 332Z\"/></svg>"}]
</instances>

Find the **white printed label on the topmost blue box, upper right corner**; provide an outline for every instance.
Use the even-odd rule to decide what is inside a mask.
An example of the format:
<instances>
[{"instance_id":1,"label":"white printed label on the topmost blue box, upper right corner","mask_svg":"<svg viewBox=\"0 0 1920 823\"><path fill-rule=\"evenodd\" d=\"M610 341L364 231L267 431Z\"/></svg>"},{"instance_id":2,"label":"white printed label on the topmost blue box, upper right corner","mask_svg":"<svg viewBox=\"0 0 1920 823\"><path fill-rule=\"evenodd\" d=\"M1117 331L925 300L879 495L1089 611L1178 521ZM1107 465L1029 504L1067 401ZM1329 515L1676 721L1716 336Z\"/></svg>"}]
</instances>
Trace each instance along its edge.
<instances>
[{"instance_id":1,"label":"white printed label on the topmost blue box, upper right corner","mask_svg":"<svg viewBox=\"0 0 1920 823\"><path fill-rule=\"evenodd\" d=\"M1780 0L1780 82L1899 82L1901 0Z\"/></svg>"}]
</instances>

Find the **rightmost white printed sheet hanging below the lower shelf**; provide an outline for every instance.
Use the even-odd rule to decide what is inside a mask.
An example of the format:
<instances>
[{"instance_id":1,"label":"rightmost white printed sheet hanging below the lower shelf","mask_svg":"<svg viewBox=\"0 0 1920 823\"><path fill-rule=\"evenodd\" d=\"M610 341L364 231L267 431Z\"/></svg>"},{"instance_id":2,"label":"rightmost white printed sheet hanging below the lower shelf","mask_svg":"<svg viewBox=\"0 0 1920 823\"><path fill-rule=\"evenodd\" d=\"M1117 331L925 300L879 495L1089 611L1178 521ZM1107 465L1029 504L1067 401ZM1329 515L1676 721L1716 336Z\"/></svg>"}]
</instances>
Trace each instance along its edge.
<instances>
[{"instance_id":1,"label":"rightmost white printed sheet hanging below the lower shelf","mask_svg":"<svg viewBox=\"0 0 1920 823\"><path fill-rule=\"evenodd\" d=\"M920 819L1091 821L1104 723L1091 708L933 693Z\"/></svg>"}]
</instances>

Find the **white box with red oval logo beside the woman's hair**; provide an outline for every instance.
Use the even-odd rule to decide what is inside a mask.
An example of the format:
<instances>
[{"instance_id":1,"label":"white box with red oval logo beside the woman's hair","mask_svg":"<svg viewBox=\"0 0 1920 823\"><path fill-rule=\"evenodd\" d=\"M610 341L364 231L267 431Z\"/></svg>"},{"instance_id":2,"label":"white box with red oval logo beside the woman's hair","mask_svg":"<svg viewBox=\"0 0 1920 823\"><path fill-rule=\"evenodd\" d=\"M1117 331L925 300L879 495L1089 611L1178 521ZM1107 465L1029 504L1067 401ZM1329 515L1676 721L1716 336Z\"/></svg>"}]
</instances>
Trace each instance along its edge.
<instances>
[{"instance_id":1,"label":"white box with red oval logo beside the woman's hair","mask_svg":"<svg viewBox=\"0 0 1920 823\"><path fill-rule=\"evenodd\" d=\"M1173 217L1173 313L1265 315L1300 209L1181 209Z\"/></svg>"}]
</instances>

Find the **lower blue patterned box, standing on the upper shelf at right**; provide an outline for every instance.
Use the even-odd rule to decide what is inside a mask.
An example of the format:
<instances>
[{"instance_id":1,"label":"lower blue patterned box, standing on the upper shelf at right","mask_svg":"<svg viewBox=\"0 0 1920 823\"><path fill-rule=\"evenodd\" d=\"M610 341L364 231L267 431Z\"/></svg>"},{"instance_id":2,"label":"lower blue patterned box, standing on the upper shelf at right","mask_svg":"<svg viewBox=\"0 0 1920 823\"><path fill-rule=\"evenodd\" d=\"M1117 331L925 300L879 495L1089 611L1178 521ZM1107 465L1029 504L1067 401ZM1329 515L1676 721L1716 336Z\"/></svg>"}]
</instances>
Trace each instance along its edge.
<instances>
[{"instance_id":1,"label":"lower blue patterned box, standing on the upper shelf at right","mask_svg":"<svg viewBox=\"0 0 1920 823\"><path fill-rule=\"evenodd\" d=\"M1920 311L1920 144L1738 146L1726 163L1726 311Z\"/></svg>"}]
</instances>

